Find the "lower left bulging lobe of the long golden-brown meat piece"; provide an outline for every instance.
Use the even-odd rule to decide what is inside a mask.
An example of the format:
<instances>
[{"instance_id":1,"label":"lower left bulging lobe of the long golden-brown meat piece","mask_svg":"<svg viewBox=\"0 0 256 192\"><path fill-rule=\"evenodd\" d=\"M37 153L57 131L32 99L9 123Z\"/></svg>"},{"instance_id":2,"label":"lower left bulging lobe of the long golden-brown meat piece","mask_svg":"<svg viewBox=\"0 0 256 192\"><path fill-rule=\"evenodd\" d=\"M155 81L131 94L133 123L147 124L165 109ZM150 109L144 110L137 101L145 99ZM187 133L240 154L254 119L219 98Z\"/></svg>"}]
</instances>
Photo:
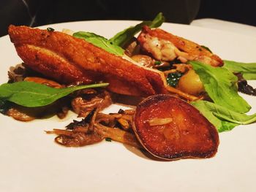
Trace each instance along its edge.
<instances>
[{"instance_id":1,"label":"lower left bulging lobe of the long golden-brown meat piece","mask_svg":"<svg viewBox=\"0 0 256 192\"><path fill-rule=\"evenodd\" d=\"M69 64L64 58L34 45L18 45L16 50L25 65L34 71L51 77L61 83L94 82L93 74L89 75L77 66Z\"/></svg>"}]
</instances>

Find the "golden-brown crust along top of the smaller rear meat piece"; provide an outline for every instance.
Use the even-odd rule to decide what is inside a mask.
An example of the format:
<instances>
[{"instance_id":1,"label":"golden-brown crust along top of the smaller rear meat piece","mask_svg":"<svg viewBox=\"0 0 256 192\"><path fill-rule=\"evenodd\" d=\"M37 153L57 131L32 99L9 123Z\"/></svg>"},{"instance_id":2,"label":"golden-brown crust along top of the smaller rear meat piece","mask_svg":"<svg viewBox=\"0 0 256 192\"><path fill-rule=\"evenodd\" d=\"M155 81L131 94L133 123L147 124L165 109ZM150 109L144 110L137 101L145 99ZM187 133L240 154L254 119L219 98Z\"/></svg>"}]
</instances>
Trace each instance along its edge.
<instances>
[{"instance_id":1,"label":"golden-brown crust along top of the smaller rear meat piece","mask_svg":"<svg viewBox=\"0 0 256 192\"><path fill-rule=\"evenodd\" d=\"M189 53L189 55L191 55L192 58L195 58L195 61L202 61L203 60L202 58L206 56L207 58L211 58L211 61L209 63L211 64L211 66L223 65L223 61L221 58L219 58L219 56L214 55L213 53L201 47L197 43L191 42L182 37L178 37L173 34L170 34L167 31L164 31L160 28L151 30L150 28L148 28L148 26L144 26L143 31L140 33L138 37L138 41L140 42L140 44L143 44L143 41L144 41L143 36L145 36L145 34L148 34L151 37L157 37L158 39L164 39L169 42L172 42L173 45L175 45L178 48L178 50Z\"/></svg>"}]
</instances>

